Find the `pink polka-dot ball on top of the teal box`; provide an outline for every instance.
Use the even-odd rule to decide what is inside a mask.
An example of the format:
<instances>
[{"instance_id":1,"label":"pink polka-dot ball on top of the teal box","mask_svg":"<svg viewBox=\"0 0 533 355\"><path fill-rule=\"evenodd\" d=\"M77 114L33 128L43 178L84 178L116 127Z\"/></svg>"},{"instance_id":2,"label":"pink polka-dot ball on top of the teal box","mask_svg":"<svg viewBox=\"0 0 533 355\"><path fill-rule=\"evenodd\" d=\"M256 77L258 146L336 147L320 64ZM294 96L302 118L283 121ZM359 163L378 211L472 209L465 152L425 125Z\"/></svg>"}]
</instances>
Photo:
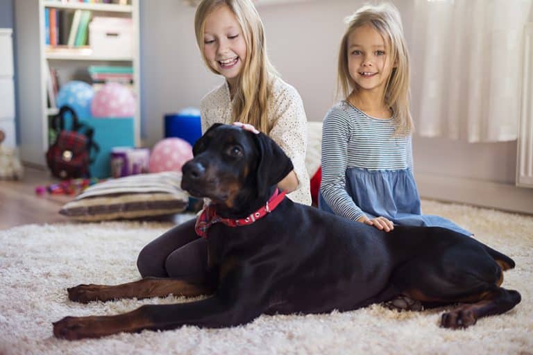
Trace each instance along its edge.
<instances>
[{"instance_id":1,"label":"pink polka-dot ball on top of the teal box","mask_svg":"<svg viewBox=\"0 0 533 355\"><path fill-rule=\"evenodd\" d=\"M119 83L107 83L94 94L91 114L94 117L133 117L135 101L135 96L128 87Z\"/></svg>"}]
</instances>

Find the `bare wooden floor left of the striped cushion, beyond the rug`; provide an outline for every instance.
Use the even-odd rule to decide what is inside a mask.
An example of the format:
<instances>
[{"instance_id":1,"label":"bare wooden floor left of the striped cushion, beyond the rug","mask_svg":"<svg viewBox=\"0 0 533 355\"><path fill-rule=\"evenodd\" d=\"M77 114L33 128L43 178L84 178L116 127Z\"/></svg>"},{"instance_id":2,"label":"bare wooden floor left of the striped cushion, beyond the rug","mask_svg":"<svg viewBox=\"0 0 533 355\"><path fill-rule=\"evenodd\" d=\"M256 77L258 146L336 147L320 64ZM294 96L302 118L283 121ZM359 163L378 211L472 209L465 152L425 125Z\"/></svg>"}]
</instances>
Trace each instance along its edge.
<instances>
[{"instance_id":1,"label":"bare wooden floor left of the striped cushion, beyond the rug","mask_svg":"<svg viewBox=\"0 0 533 355\"><path fill-rule=\"evenodd\" d=\"M24 179L0 180L0 230L30 223L65 222L67 218L58 211L72 196L41 196L35 193L35 187L58 182L51 178L48 170L25 167Z\"/></svg>"}]
</instances>

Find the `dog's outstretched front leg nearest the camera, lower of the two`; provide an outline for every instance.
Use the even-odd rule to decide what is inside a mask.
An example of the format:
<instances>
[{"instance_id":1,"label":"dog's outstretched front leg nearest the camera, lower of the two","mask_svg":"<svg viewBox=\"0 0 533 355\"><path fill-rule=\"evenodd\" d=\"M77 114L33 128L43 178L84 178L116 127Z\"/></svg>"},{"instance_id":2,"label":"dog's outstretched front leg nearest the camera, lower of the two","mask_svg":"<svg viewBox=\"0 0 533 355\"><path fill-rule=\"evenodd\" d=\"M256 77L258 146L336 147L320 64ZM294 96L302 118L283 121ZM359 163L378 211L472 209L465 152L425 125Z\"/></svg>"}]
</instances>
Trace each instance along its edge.
<instances>
[{"instance_id":1,"label":"dog's outstretched front leg nearest the camera, lower of the two","mask_svg":"<svg viewBox=\"0 0 533 355\"><path fill-rule=\"evenodd\" d=\"M143 329L175 329L185 324L210 328L231 327L250 322L260 313L256 307L243 307L233 302L228 304L217 297L210 297L183 304L149 304L119 315L65 317L53 323L53 334L56 338L78 340L110 336L123 331L133 333Z\"/></svg>"}]
</instances>

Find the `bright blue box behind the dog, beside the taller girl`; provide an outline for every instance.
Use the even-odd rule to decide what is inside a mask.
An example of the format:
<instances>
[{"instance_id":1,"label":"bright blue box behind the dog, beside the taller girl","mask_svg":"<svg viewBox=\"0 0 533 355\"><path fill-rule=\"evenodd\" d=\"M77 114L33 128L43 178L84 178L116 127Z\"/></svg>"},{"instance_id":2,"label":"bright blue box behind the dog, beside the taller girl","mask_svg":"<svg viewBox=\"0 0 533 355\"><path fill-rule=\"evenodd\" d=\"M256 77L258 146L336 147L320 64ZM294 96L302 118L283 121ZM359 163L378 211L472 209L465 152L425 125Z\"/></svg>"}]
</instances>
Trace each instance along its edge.
<instances>
[{"instance_id":1,"label":"bright blue box behind the dog, beside the taller girl","mask_svg":"<svg viewBox=\"0 0 533 355\"><path fill-rule=\"evenodd\" d=\"M202 124L198 110L187 109L177 114L164 115L164 137L177 137L191 146L202 136Z\"/></svg>"}]
</instances>

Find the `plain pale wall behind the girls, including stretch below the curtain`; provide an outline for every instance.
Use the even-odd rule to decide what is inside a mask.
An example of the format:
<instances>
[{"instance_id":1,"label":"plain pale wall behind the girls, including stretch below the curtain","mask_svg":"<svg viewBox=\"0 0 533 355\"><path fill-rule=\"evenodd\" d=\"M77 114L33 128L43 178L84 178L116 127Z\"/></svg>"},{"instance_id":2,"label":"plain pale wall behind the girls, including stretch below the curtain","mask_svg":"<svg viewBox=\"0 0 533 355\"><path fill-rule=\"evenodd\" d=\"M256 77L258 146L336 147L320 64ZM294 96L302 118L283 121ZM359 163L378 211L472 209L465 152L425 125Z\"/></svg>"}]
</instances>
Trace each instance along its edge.
<instances>
[{"instance_id":1,"label":"plain pale wall behind the girls, including stretch below the curtain","mask_svg":"<svg viewBox=\"0 0 533 355\"><path fill-rule=\"evenodd\" d=\"M258 8L271 60L300 92L310 121L321 121L335 103L343 20L364 2L309 0ZM402 12L409 44L412 1L393 2ZM141 36L142 127L151 146L163 137L165 113L198 106L221 78L205 69L194 37L194 9L181 1L141 1ZM413 144L422 196L533 214L533 189L514 187L516 142L468 144L415 136Z\"/></svg>"}]
</instances>

